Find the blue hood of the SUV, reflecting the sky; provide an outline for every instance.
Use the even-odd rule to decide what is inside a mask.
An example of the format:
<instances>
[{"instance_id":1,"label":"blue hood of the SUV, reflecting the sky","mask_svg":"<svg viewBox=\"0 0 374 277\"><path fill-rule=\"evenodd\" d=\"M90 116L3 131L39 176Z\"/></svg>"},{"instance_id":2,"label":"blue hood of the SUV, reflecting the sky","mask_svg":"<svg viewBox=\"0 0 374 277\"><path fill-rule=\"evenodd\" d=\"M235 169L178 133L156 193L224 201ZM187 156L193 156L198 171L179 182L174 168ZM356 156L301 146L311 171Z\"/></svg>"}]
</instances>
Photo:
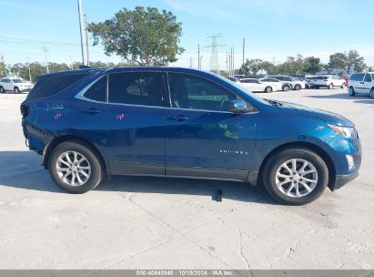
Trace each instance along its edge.
<instances>
[{"instance_id":1,"label":"blue hood of the SUV, reflecting the sky","mask_svg":"<svg viewBox=\"0 0 374 277\"><path fill-rule=\"evenodd\" d=\"M344 118L339 114L332 113L326 110L318 109L318 108L308 108L302 105L282 102L282 101L275 101L280 105L276 105L278 110L296 116L304 116L304 117L311 117L311 118L320 118L324 120L326 123L344 126L344 127L354 127L355 124L350 121L348 118Z\"/></svg>"}]
</instances>

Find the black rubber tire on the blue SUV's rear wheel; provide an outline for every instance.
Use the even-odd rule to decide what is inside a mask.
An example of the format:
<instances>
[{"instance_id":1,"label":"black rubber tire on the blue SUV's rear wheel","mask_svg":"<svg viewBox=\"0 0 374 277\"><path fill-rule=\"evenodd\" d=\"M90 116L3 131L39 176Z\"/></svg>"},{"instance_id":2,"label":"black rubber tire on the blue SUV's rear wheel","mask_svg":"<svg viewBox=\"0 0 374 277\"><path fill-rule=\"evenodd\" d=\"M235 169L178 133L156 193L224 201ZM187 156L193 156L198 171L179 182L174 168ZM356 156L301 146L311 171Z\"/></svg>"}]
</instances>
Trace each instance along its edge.
<instances>
[{"instance_id":1,"label":"black rubber tire on the blue SUV's rear wheel","mask_svg":"<svg viewBox=\"0 0 374 277\"><path fill-rule=\"evenodd\" d=\"M78 162L75 163L76 167L66 158L66 153L73 163L75 161L74 153L77 153L76 159ZM61 159L64 162L61 162ZM69 166L69 163L72 166ZM72 193L85 193L89 190L94 190L103 180L104 170L96 151L79 141L66 141L58 144L49 156L48 169L56 184ZM88 178L82 172L86 173ZM64 175L65 180L63 180Z\"/></svg>"}]
</instances>

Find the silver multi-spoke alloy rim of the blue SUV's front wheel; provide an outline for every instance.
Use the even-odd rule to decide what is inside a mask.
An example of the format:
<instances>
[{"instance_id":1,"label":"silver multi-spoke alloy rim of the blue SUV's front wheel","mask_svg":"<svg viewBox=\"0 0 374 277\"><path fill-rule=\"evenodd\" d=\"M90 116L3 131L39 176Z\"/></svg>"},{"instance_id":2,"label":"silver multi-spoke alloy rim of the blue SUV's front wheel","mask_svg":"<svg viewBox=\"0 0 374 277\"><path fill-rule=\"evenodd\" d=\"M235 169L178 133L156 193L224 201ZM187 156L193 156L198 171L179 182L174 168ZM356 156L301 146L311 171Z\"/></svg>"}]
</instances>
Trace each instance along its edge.
<instances>
[{"instance_id":1,"label":"silver multi-spoke alloy rim of the blue SUV's front wheel","mask_svg":"<svg viewBox=\"0 0 374 277\"><path fill-rule=\"evenodd\" d=\"M318 172L306 159L288 159L279 166L275 178L278 190L288 197L299 198L316 188Z\"/></svg>"}]
</instances>

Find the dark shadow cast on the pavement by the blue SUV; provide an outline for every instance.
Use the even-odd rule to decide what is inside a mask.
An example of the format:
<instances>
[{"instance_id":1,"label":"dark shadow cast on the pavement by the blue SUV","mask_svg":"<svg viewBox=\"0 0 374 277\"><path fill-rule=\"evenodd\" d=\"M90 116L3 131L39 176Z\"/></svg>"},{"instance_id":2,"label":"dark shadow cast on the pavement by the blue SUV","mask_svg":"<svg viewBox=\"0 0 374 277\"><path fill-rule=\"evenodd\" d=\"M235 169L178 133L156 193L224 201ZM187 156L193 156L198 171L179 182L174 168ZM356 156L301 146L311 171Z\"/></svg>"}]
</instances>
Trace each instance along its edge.
<instances>
[{"instance_id":1,"label":"dark shadow cast on the pavement by the blue SUV","mask_svg":"<svg viewBox=\"0 0 374 277\"><path fill-rule=\"evenodd\" d=\"M41 157L32 151L0 151L0 187L68 193L60 189L41 166ZM157 177L113 176L103 180L99 191L124 193L157 193L209 196L217 200L217 190L222 190L223 200L238 200L277 204L262 187L248 183L224 180L187 180Z\"/></svg>"}]
</instances>

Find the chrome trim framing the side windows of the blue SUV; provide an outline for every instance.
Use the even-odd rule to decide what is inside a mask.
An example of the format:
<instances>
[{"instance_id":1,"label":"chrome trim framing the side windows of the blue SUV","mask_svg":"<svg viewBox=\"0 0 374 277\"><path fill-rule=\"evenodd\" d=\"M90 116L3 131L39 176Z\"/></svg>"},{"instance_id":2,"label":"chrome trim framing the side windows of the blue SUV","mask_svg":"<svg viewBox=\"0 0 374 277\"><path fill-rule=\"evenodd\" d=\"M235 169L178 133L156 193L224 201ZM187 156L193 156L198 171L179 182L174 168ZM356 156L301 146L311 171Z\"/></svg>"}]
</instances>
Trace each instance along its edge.
<instances>
[{"instance_id":1,"label":"chrome trim framing the side windows of the blue SUV","mask_svg":"<svg viewBox=\"0 0 374 277\"><path fill-rule=\"evenodd\" d=\"M167 73L167 90L168 90L168 94L169 94L169 105L170 107L163 107L163 106L147 106L147 105L136 105L136 104L125 104L125 103L111 103L111 102L108 102L108 96L109 96L109 74L116 74L116 73L126 73L126 72L165 72ZM200 76L197 76L195 74L191 74L191 73L184 73L184 72L174 72L174 71L163 71L163 70L144 70L144 71L138 71L138 70L129 70L129 71L123 71L123 72L114 72L114 73L110 73L108 72L108 70L106 70L106 75L104 76L100 76L100 77L96 77L96 79L94 79L91 83L89 83L86 87L83 87L77 94L76 94L76 98L77 99L80 99L80 100L83 100L83 101L87 101L87 102L93 102L93 103L102 103L102 104L107 104L107 105L119 105L119 106L125 106L125 107L138 107L138 108L166 108L166 109L172 109L172 110L189 110L189 111L200 111L200 112L207 112L207 113L225 113L225 114L235 114L231 111L219 111L219 110L209 110L209 109L192 109L192 108L173 108L171 107L171 96L170 96L170 87L169 87L169 79L168 79L168 73L176 73L176 74L185 74L185 75L190 75L190 76L193 76L193 77L200 77ZM103 101L97 101L97 100L94 100L94 99L91 99L91 98L87 98L85 97L85 93L86 91L94 86L96 84L97 81L99 81L102 77L106 77L106 102L103 102ZM223 87L222 85L218 84L216 81L213 81L213 80L210 80L208 79L207 77L201 77L201 78L204 78L204 79L207 79L208 81L210 82L213 82L215 84L217 84L217 86L220 86L220 87ZM235 92L231 91L230 89L228 89L227 87L223 87L225 88L226 90L228 90L230 93L234 94L236 97L239 97L240 99L242 99L243 101L245 101L246 103L248 103L248 101L246 99L243 99L242 97L238 96L238 94L236 94ZM248 103L250 106L252 106L253 108L256 108L257 110L255 111L251 111L251 112L248 112L248 113L243 113L243 115L248 115L248 114L258 114L259 113L259 110L256 106L254 106L252 103Z\"/></svg>"}]
</instances>

